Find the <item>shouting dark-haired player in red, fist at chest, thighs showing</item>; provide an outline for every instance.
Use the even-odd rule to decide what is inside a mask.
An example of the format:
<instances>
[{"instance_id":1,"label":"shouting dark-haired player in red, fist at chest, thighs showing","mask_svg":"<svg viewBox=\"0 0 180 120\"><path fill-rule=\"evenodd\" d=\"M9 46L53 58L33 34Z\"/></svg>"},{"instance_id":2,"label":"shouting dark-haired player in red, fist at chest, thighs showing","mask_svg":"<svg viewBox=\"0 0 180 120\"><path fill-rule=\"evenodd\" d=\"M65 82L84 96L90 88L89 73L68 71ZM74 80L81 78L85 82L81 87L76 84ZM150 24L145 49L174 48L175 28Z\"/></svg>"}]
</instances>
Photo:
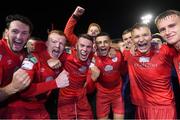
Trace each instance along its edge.
<instances>
[{"instance_id":1,"label":"shouting dark-haired player in red, fist at chest, thighs showing","mask_svg":"<svg viewBox=\"0 0 180 120\"><path fill-rule=\"evenodd\" d=\"M123 56L116 51L110 58L112 40L107 33L100 33L95 40L97 55L94 55L94 66L91 68L91 80L96 82L96 109L98 119L108 119L110 109L114 119L123 119L124 102L122 99L122 74L125 70Z\"/></svg>"}]
</instances>

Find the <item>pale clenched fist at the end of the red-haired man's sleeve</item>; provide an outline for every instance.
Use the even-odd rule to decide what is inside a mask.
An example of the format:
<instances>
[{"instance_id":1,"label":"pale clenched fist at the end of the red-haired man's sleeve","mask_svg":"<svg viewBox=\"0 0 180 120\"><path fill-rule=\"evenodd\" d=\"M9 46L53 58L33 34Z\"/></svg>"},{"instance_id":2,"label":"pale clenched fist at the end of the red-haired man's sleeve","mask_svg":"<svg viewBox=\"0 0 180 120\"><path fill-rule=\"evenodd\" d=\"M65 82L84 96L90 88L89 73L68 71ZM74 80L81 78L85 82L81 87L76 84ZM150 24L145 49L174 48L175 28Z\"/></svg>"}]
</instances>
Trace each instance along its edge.
<instances>
[{"instance_id":1,"label":"pale clenched fist at the end of the red-haired man's sleeve","mask_svg":"<svg viewBox=\"0 0 180 120\"><path fill-rule=\"evenodd\" d=\"M69 73L63 70L55 79L58 88L64 88L69 86Z\"/></svg>"}]
</instances>

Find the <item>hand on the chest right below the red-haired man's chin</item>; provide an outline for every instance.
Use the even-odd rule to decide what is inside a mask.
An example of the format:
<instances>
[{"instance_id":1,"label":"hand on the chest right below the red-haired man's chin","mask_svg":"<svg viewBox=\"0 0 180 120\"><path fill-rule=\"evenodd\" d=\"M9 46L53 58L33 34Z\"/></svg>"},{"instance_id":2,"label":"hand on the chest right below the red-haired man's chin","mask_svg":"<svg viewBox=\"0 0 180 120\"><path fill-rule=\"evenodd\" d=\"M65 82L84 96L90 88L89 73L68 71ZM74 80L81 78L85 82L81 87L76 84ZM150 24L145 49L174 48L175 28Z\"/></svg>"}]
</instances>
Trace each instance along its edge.
<instances>
[{"instance_id":1,"label":"hand on the chest right below the red-haired man's chin","mask_svg":"<svg viewBox=\"0 0 180 120\"><path fill-rule=\"evenodd\" d=\"M47 64L52 69L58 69L61 67L61 62L59 59L51 58L47 61Z\"/></svg>"}]
</instances>

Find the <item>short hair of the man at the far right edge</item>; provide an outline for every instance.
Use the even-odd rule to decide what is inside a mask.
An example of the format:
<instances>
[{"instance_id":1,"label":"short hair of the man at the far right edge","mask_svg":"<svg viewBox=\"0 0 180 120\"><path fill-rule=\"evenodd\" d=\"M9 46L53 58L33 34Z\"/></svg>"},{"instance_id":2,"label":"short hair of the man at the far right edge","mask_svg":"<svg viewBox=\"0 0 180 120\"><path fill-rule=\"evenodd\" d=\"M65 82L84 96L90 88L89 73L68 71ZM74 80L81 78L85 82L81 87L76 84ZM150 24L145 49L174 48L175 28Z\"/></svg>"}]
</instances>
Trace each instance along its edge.
<instances>
[{"instance_id":1,"label":"short hair of the man at the far right edge","mask_svg":"<svg viewBox=\"0 0 180 120\"><path fill-rule=\"evenodd\" d=\"M157 25L157 23L158 23L161 19L163 19L163 18L165 18L165 17L167 17L167 16L170 16L170 15L177 15L177 16L180 17L180 11L177 11L177 10L166 10L166 11L162 12L161 14L159 14L159 15L156 17L156 19L155 19L155 24Z\"/></svg>"}]
</instances>

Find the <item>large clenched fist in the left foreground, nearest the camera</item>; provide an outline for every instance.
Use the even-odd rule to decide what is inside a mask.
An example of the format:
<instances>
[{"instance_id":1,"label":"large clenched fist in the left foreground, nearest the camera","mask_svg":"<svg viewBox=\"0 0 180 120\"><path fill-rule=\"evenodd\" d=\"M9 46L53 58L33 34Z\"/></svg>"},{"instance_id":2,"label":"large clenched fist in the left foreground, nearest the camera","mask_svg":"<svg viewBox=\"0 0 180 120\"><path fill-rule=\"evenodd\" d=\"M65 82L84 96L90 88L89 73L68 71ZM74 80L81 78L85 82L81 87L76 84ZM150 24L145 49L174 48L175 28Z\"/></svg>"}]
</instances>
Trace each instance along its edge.
<instances>
[{"instance_id":1,"label":"large clenched fist in the left foreground, nearest the camera","mask_svg":"<svg viewBox=\"0 0 180 120\"><path fill-rule=\"evenodd\" d=\"M19 92L21 90L24 90L27 86L29 86L31 82L31 79L23 69L18 69L13 74L13 79L10 83L11 89L13 93Z\"/></svg>"}]
</instances>

